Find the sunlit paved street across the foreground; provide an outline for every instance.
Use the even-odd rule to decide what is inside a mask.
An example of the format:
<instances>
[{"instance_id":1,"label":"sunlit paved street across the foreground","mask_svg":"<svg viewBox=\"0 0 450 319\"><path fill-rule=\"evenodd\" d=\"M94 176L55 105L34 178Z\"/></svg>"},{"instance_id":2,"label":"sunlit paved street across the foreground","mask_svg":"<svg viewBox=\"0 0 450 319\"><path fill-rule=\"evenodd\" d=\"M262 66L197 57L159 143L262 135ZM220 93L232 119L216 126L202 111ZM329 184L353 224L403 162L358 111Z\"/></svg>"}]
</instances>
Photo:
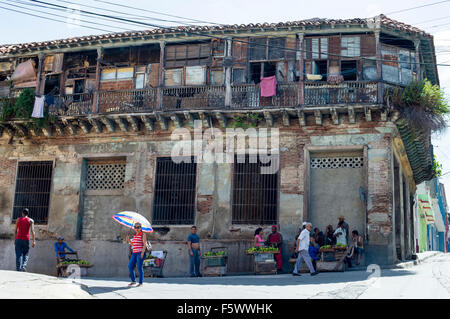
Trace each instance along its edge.
<instances>
[{"instance_id":1,"label":"sunlit paved street across the foreground","mask_svg":"<svg viewBox=\"0 0 450 319\"><path fill-rule=\"evenodd\" d=\"M82 279L91 295L67 279L0 271L0 298L450 298L450 254L439 253L419 265L406 266L382 269L375 278L365 271L316 277L146 278L139 288L127 287L128 278Z\"/></svg>"}]
</instances>

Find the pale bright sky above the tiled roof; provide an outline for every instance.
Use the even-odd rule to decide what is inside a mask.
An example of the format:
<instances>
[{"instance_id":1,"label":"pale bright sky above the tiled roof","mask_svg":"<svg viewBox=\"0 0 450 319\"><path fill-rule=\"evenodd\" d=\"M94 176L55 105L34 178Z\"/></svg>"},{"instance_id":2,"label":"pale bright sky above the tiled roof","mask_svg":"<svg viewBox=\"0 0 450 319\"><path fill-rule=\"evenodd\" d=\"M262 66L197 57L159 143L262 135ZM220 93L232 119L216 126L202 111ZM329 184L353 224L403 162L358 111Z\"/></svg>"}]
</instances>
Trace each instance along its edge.
<instances>
[{"instance_id":1,"label":"pale bright sky above the tiled roof","mask_svg":"<svg viewBox=\"0 0 450 319\"><path fill-rule=\"evenodd\" d=\"M71 12L53 11L52 15L46 17L62 22L41 19L22 13L5 10L28 12L35 15L42 13L23 10L18 6L24 5L24 0L0 0L0 44L13 44L24 42L35 42L44 40L56 40L74 36L101 34L105 31L93 30L74 26L67 23L71 21ZM380 13L388 17L411 24L434 36L437 62L450 65L450 0L379 0L379 1L345 1L345 0L322 0L322 1L303 1L303 0L42 0L56 3L62 6L77 5L81 10L93 11L95 9L88 6L95 6L106 10L115 10L118 12L105 12L105 14L121 15L123 17L133 16L133 19L145 18L147 23L156 25L168 25L169 22L161 20L180 20L180 18L168 17L166 15L156 14L164 13L174 16L190 18L195 20L208 21L222 24L248 24L263 22L286 22L309 18L367 18ZM103 2L102 2L103 1ZM133 8L125 8L105 3L127 5ZM72 2L72 3L71 3ZM438 4L431 5L433 3ZM15 6L15 7L14 7ZM420 7L416 9L411 9ZM30 8L30 7L28 7ZM46 10L34 7L34 10ZM97 10L98 11L98 10ZM149 11L154 11L149 12ZM61 15L58 17L57 15ZM68 20L69 17L69 20ZM149 20L157 18L159 20ZM87 19L82 17L81 19ZM145 26L138 25L118 25L108 20L97 20L104 26L89 25L107 31L125 31L148 29ZM193 22L189 22L193 23ZM180 25L180 23L177 23ZM450 67L438 66L441 88L450 100ZM450 130L444 133L434 135L432 138L434 152L437 159L443 165L441 178L450 193ZM447 174L446 174L447 173ZM450 196L449 196L450 197ZM450 202L450 198L448 199Z\"/></svg>"}]
</instances>

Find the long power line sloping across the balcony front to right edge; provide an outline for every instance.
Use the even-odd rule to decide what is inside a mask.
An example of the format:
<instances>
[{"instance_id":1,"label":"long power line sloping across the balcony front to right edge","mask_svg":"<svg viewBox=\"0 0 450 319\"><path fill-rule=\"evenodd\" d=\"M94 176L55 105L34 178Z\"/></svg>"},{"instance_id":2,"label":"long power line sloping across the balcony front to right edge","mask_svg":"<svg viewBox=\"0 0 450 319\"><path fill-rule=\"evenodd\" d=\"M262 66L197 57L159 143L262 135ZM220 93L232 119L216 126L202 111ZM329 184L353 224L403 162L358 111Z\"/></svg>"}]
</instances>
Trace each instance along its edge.
<instances>
[{"instance_id":1,"label":"long power line sloping across the balcony front to right edge","mask_svg":"<svg viewBox=\"0 0 450 319\"><path fill-rule=\"evenodd\" d=\"M57 5L57 4L52 4L52 3L48 3L48 2L40 1L40 0L30 0L30 1L32 1L32 2L38 2L38 3L43 3L43 4L55 6L55 7L64 8L64 9L67 9L67 8L68 8L68 7L66 7L66 6L61 6L61 5ZM447 0L447 1L450 1L450 0ZM101 14L101 13L96 13L96 12L91 12L91 11L86 11L86 10L79 10L79 11L82 12L82 13L89 14L89 15L94 15L94 16L109 17L109 18L113 18L113 19L120 20L120 21L126 21L126 22L135 22L136 24L141 24L141 25L144 25L144 26L151 26L151 27L156 27L156 28L166 28L166 27L164 27L164 26L160 26L160 25L157 25L157 24L151 24L151 23L146 23L146 22L133 21L133 20L129 20L129 19L125 19L125 18L119 18L119 17L112 17L112 16L107 15L107 14ZM166 29L172 29L172 30L178 31L176 28L166 28ZM212 39L220 38L220 37L218 37L218 36L207 35L207 34L204 34L204 33L201 33L201 32L196 32L196 31L183 30L183 32L188 33L188 34L200 35L200 36L203 36L203 37L206 37L206 38L212 38ZM225 38L221 38L221 39L225 39ZM284 50L284 51L292 51L292 52L302 52L302 51L303 51L303 52L309 52L309 51L307 51L307 50L297 50L297 49L291 49L291 48L280 47L280 46L274 46L274 45L266 45L266 44L259 44L259 43L250 43L250 42L248 42L248 41L243 41L243 40L232 39L232 41L234 41L234 42L246 43L246 44L250 44L250 45L253 45L253 46L272 47L272 48L277 48L277 49ZM311 51L311 52L312 52L312 51ZM314 52L314 53L318 53L318 52ZM346 56L343 56L343 55L340 55L340 54L332 54L332 53L327 53L327 56L346 57ZM372 61L380 61L380 62L398 62L398 61L395 61L395 60L371 59L371 58L364 58L364 57L361 57L361 59L367 59L367 60L372 60ZM420 64L420 65L427 65L427 64L430 64L430 65L439 65L439 66L450 66L450 65L444 65L444 64L421 63L421 62L409 62L409 63L411 63L411 64Z\"/></svg>"}]
</instances>

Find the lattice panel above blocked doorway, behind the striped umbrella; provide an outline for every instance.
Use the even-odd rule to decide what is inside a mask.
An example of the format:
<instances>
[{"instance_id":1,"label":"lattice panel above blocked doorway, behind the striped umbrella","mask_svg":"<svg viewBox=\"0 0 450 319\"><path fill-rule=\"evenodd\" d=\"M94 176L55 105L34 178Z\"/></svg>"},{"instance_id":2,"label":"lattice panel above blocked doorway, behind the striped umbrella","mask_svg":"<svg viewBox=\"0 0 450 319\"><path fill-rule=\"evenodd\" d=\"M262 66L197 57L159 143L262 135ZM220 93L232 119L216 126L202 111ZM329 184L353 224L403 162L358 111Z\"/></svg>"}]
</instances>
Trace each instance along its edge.
<instances>
[{"instance_id":1,"label":"lattice panel above blocked doorway, behind the striped umbrella","mask_svg":"<svg viewBox=\"0 0 450 319\"><path fill-rule=\"evenodd\" d=\"M87 162L87 190L122 190L125 184L125 159Z\"/></svg>"}]
</instances>

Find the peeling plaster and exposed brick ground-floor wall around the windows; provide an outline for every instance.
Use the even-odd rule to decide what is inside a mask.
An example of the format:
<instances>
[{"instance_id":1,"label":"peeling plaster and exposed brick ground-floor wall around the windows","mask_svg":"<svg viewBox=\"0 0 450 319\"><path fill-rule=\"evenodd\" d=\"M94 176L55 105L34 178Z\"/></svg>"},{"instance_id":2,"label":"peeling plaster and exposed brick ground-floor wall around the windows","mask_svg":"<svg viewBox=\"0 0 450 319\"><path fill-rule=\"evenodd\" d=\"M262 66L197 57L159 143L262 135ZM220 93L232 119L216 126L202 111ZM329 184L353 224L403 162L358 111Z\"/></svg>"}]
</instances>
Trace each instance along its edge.
<instances>
[{"instance_id":1,"label":"peeling plaster and exposed brick ground-floor wall around the windows","mask_svg":"<svg viewBox=\"0 0 450 319\"><path fill-rule=\"evenodd\" d=\"M359 119L358 119L359 120ZM280 123L280 184L279 184L279 226L285 240L292 241L298 227L304 220L305 148L320 146L367 145L367 181L369 191L368 220L369 239L372 243L385 246L392 238L392 186L391 186L391 135L395 127L390 123L348 120L335 126L324 118L322 126L310 124L301 127L291 121L291 126ZM138 210L151 219L154 191L155 160L157 156L170 156L175 142L170 141L168 131L156 132L91 133L81 131L75 137L36 137L15 139L8 144L8 138L0 139L0 218L2 236L11 236L12 202L14 198L15 166L17 159L55 159L55 177L50 205L50 221L40 226L38 237L47 238L65 234L74 238L80 217L80 189L82 159L87 157L125 156L127 168L125 189L115 199L117 211ZM22 144L20 144L22 143ZM216 178L214 175L216 174ZM231 223L232 164L198 164L196 198L196 224L202 238L251 239L259 225L233 225ZM216 185L215 185L216 183ZM216 186L216 187L215 187ZM109 199L112 197L110 196ZM83 228L85 239L116 240L124 237L126 230L111 220L114 211L102 211L102 201L113 203L108 196L97 202L97 208L85 209ZM108 204L109 205L109 204ZM112 204L111 204L112 205ZM114 204L116 205L116 204ZM81 206L83 207L83 206ZM100 207L100 208L98 208ZM106 206L105 206L106 207ZM185 240L190 225L169 226L164 232L151 234L152 240ZM269 232L269 225L265 227Z\"/></svg>"}]
</instances>

